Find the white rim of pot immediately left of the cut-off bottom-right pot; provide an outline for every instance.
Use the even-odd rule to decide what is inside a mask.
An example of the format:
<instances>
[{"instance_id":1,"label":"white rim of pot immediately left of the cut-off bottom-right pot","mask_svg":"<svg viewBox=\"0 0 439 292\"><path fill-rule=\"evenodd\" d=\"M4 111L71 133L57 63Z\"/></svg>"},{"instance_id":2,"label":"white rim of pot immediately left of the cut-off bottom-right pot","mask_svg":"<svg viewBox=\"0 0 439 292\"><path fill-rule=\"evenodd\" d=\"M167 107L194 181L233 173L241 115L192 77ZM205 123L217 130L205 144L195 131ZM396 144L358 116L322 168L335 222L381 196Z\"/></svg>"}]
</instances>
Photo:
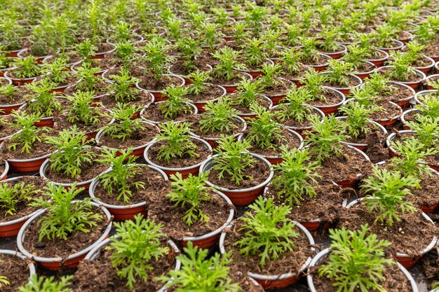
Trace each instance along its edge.
<instances>
[{"instance_id":1,"label":"white rim of pot immediately left of the cut-off bottom-right pot","mask_svg":"<svg viewBox=\"0 0 439 292\"><path fill-rule=\"evenodd\" d=\"M314 253L318 253L318 248L316 248L313 236L311 235L311 232L309 232L304 225L300 224L297 221L291 220L292 223L294 225L297 226L297 228L299 228L306 236L306 238L309 241L309 245L311 246L311 251L313 251ZM234 225L234 223L230 223L227 227L231 228ZM226 249L224 248L224 240L226 239L226 235L227 232L222 232L221 236L219 237L219 252L221 254L224 254L226 252ZM303 272L304 270L306 270L310 263L311 263L311 256L309 256L305 263L302 265L302 267L300 267L299 273ZM283 279L287 279L290 277L296 277L297 274L295 272L287 272L285 274L276 274L276 275L266 275L266 274L258 274L258 273L253 273L253 272L248 272L248 276L252 277L253 279L261 279L261 280L268 280L268 281L278 281L278 280L283 280Z\"/></svg>"}]
</instances>

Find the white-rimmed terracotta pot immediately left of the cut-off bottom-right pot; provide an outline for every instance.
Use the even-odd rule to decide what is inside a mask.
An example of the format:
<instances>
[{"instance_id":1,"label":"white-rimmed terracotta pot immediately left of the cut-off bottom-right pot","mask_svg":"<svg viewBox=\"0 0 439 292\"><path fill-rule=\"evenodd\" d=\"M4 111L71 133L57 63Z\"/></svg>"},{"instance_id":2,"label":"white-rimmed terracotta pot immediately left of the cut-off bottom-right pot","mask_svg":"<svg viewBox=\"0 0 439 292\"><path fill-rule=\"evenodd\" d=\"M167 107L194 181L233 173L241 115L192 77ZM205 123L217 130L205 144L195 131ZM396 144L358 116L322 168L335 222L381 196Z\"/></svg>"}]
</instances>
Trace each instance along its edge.
<instances>
[{"instance_id":1,"label":"white-rimmed terracotta pot immediately left of the cut-off bottom-right pot","mask_svg":"<svg viewBox=\"0 0 439 292\"><path fill-rule=\"evenodd\" d=\"M314 247L315 242L311 233L309 233L309 231L306 230L306 228L304 228L304 226L299 222L292 220L292 223L294 223L297 228L299 228L300 231L302 231L306 235L306 238L309 241L309 246L311 246L311 250L317 253L318 249ZM226 239L226 236L227 232L222 232L221 237L219 238L219 252L221 254L226 253L226 249L224 247L224 241ZM285 288L286 286L296 284L297 281L299 281L300 277L302 277L302 272L304 272L309 267L311 260L311 257L306 260L304 265L302 265L302 267L300 268L298 274L296 274L295 272L286 272L285 274L259 274L258 272L248 272L248 276L252 279L255 279L255 281L257 281L264 289Z\"/></svg>"}]
</instances>

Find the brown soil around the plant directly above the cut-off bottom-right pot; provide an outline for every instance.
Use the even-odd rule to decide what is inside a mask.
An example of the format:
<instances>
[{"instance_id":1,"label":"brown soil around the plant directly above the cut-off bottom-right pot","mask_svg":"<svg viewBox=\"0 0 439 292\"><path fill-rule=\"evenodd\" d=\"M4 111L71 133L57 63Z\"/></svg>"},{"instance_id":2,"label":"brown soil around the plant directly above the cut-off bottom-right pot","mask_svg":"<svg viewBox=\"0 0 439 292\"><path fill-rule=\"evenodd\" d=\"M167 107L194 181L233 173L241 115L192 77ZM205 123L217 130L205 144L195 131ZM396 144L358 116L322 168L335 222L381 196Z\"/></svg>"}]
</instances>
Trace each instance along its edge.
<instances>
[{"instance_id":1,"label":"brown soil around the plant directly above the cut-off bottom-right pot","mask_svg":"<svg viewBox=\"0 0 439 292\"><path fill-rule=\"evenodd\" d=\"M367 223L370 232L376 234L378 239L389 240L392 243L389 251L394 256L397 252L419 256L422 249L431 244L434 235L437 234L434 224L426 221L421 214L421 211L415 214L406 213L401 216L401 221L389 226L385 223L374 223L377 211L370 212L364 204L356 204L341 212L337 228L344 226L349 230L359 230L361 225Z\"/></svg>"}]
</instances>

